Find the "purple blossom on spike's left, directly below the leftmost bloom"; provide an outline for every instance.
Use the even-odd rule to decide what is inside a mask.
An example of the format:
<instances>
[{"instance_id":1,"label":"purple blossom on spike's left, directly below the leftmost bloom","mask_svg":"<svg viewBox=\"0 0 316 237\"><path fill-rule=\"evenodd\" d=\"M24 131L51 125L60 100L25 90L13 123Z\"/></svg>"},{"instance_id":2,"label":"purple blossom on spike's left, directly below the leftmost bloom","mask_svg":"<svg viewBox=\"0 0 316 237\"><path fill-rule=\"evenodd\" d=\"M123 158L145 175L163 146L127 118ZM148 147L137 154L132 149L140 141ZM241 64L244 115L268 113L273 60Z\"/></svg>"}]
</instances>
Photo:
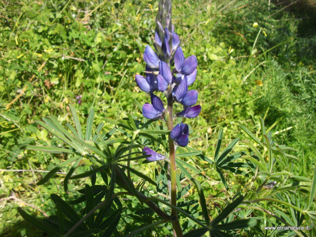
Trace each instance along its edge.
<instances>
[{"instance_id":1,"label":"purple blossom on spike's left, directly below the leftmost bloom","mask_svg":"<svg viewBox=\"0 0 316 237\"><path fill-rule=\"evenodd\" d=\"M143 115L147 119L159 119L165 113L165 108L163 107L161 99L150 93L151 104L146 103L143 105Z\"/></svg>"}]
</instances>

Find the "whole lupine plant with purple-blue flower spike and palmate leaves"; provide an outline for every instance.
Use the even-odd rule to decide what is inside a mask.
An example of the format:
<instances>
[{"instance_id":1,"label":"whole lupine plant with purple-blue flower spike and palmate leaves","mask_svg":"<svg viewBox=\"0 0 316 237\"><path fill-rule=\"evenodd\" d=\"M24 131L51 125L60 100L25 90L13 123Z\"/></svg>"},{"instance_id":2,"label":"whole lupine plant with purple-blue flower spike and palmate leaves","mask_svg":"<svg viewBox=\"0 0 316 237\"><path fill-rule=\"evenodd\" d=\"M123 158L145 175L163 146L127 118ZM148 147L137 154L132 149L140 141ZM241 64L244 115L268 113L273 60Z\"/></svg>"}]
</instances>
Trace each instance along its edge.
<instances>
[{"instance_id":1,"label":"whole lupine plant with purple-blue flower spike and palmate leaves","mask_svg":"<svg viewBox=\"0 0 316 237\"><path fill-rule=\"evenodd\" d=\"M220 152L222 130L212 158L188 146L194 138L190 137L193 131L182 119L195 118L202 109L195 105L197 91L188 88L197 77L197 58L194 55L185 58L171 19L171 1L160 0L154 37L156 51L146 46L143 54L146 71L135 76L138 87L150 97L150 103L143 106L136 101L144 118L139 120L131 114L118 120L104 118L115 126L101 133L104 123L93 131L94 110L91 109L83 135L76 111L69 105L75 127L70 124L64 127L50 116L43 118L44 122L37 122L66 146L24 147L67 155L39 185L70 164L64 191L68 190L70 179L90 177L91 185L85 184L78 190L80 197L70 201L72 205L85 202L81 212L78 213L77 206L52 194L57 215L39 221L19 208L21 216L52 236L64 237L284 236L285 233L308 236L306 231L297 228L267 233L261 229L261 218L256 217L257 212L263 212L271 217L266 225L295 227L304 222L309 226L309 234L315 235L316 214L310 209L316 189L316 170L313 179L294 176L291 172L297 158L287 153L291 148L272 140L272 133L266 131L262 119L261 139L240 126L252 140L244 141L247 149L243 152L230 154L238 138ZM115 140L109 140L116 131L125 136L125 141L117 146ZM200 183L206 170L189 162L195 163L197 159L216 170L226 190L229 186L224 172L249 177L250 181L238 188L233 197L228 197L227 204L211 210ZM154 174L142 170L149 162L155 162ZM89 164L87 170L74 174L79 164L85 163ZM187 198L187 192L193 188L199 200ZM298 192L306 195L300 197ZM284 208L272 213L266 205L269 201Z\"/></svg>"}]
</instances>

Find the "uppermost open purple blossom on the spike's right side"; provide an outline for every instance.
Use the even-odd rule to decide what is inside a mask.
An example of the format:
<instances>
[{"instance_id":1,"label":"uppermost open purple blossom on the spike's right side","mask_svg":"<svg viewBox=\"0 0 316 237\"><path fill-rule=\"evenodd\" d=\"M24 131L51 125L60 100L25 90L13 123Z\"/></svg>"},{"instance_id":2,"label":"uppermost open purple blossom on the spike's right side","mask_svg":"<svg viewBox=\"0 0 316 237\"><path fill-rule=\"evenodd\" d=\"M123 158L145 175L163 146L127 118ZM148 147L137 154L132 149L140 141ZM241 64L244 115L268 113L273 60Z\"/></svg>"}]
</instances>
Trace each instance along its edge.
<instances>
[{"instance_id":1,"label":"uppermost open purple blossom on the spike's right side","mask_svg":"<svg viewBox=\"0 0 316 237\"><path fill-rule=\"evenodd\" d=\"M174 54L174 66L178 73L190 75L197 68L197 58L195 55L184 58L182 49L179 47Z\"/></svg>"}]
</instances>

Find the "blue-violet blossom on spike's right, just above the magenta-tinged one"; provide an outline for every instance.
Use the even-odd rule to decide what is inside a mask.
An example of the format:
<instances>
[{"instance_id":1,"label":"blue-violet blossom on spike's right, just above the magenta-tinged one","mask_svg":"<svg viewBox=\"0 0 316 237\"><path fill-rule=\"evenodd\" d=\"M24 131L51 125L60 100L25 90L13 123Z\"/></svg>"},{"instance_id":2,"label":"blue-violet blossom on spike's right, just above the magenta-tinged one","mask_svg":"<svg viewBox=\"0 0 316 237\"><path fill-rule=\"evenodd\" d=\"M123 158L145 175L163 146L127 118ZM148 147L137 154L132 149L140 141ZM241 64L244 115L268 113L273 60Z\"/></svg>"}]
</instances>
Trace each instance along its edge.
<instances>
[{"instance_id":1,"label":"blue-violet blossom on spike's right, just above the magenta-tinged one","mask_svg":"<svg viewBox=\"0 0 316 237\"><path fill-rule=\"evenodd\" d=\"M184 106L192 106L197 102L197 91L188 91L188 80L185 78L180 85L176 88L174 96L178 102Z\"/></svg>"}]
</instances>

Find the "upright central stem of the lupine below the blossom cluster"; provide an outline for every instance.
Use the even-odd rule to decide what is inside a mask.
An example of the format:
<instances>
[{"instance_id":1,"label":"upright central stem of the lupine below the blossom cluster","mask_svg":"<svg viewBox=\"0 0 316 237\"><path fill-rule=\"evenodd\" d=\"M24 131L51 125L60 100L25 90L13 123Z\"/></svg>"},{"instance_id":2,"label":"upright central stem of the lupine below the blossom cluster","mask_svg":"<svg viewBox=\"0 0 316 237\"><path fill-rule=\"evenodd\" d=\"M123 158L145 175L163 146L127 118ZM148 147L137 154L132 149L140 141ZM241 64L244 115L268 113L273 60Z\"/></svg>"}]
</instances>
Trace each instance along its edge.
<instances>
[{"instance_id":1,"label":"upright central stem of the lupine below the blossom cluster","mask_svg":"<svg viewBox=\"0 0 316 237\"><path fill-rule=\"evenodd\" d=\"M172 88L168 88L168 93L167 93L167 127L168 130L173 129L173 99L172 99ZM176 157L175 157L175 149L174 149L174 142L170 137L170 134L168 136L169 140L169 165L170 165L170 183L171 183L171 193L170 193L170 204L172 206L177 206L177 166L176 166ZM173 234L174 236L182 236L182 230L181 226L178 220L178 212L176 209L171 208L171 216L173 216L175 219L172 222L173 226Z\"/></svg>"}]
</instances>

